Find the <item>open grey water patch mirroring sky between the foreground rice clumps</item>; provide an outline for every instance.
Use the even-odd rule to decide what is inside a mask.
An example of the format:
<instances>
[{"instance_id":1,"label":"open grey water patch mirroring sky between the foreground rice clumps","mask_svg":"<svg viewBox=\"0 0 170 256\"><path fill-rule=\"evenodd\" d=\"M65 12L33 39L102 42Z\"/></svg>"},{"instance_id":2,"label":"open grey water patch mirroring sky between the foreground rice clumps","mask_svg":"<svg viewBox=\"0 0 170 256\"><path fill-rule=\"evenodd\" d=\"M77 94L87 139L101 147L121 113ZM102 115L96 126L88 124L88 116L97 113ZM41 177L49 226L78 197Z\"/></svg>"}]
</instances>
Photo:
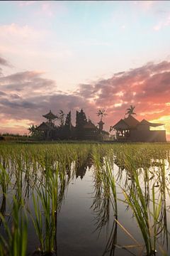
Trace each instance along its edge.
<instances>
[{"instance_id":1,"label":"open grey water patch mirroring sky between the foreground rice clumps","mask_svg":"<svg viewBox=\"0 0 170 256\"><path fill-rule=\"evenodd\" d=\"M93 169L93 168L92 168ZM101 230L101 235L98 237L96 230L96 215L91 208L93 203L93 178L94 171L86 171L84 178L74 179L74 182L69 184L67 196L62 205L62 210L58 218L57 238L59 255L67 256L72 253L73 256L89 255L101 256L106 246L106 228ZM73 184L74 183L74 184ZM118 197L120 197L118 195ZM129 221L127 218L132 217L131 210L125 212L125 206L120 204L118 207L120 222L132 231L140 241L140 236L137 235L137 228L134 228L135 221ZM113 224L113 211L111 210L111 225ZM108 233L109 234L109 233ZM118 228L118 240L123 245L129 245L130 239L125 235L124 231ZM129 255L123 250L116 250L116 253L121 255ZM119 255L119 254L118 254Z\"/></svg>"}]
</instances>

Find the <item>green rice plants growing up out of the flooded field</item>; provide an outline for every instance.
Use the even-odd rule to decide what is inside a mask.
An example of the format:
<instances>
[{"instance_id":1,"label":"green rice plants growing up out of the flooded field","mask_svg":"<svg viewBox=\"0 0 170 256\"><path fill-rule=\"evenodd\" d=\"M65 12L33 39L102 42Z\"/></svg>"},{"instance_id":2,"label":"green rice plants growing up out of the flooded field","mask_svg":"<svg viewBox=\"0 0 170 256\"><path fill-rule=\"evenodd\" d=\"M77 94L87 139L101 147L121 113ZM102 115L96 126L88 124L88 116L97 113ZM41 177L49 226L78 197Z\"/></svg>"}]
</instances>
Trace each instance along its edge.
<instances>
[{"instance_id":1,"label":"green rice plants growing up out of the flooded field","mask_svg":"<svg viewBox=\"0 0 170 256\"><path fill-rule=\"evenodd\" d=\"M169 144L91 143L0 144L0 255L27 255L28 223L39 241L35 252L57 252L58 215L77 169L87 162L93 166L96 232L108 228L103 255L116 255L117 248L168 255ZM120 208L133 218L140 240ZM118 230L128 245L118 240Z\"/></svg>"}]
</instances>

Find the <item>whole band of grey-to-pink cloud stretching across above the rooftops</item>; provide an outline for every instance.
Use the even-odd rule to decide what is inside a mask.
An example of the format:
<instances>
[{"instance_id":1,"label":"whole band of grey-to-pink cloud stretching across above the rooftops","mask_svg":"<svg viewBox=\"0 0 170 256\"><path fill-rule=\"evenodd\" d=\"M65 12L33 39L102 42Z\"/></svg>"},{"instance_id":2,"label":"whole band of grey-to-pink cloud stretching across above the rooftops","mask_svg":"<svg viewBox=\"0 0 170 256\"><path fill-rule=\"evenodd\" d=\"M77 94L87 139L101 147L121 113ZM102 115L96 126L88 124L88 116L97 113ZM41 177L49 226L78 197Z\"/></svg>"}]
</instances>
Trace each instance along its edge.
<instances>
[{"instance_id":1,"label":"whole band of grey-to-pink cloud stretching across above the rooftops","mask_svg":"<svg viewBox=\"0 0 170 256\"><path fill-rule=\"evenodd\" d=\"M83 107L87 117L97 124L96 112L106 109L105 128L125 117L126 109L135 105L137 119L160 119L169 116L170 62L147 63L142 67L115 73L109 79L80 84L76 91L57 91L55 80L44 78L45 73L32 70L0 78L0 107L5 119L40 124L49 110L76 110ZM73 119L74 119L73 118ZM163 122L163 121L162 121ZM11 125L11 127L13 127ZM13 129L13 128L12 128ZM166 120L166 129L170 132ZM26 130L24 130L26 132Z\"/></svg>"}]
</instances>

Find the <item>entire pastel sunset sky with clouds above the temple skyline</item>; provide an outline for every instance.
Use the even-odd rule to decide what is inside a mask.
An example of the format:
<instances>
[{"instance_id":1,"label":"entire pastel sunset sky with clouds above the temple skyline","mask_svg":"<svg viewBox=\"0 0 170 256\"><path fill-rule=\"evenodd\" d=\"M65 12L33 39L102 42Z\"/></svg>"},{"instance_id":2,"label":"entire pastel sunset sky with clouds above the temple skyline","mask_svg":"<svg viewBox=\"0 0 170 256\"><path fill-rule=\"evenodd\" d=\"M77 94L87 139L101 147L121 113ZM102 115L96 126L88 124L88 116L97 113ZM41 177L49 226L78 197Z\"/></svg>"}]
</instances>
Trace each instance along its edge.
<instances>
[{"instance_id":1,"label":"entire pastel sunset sky with clouds above the temple skyline","mask_svg":"<svg viewBox=\"0 0 170 256\"><path fill-rule=\"evenodd\" d=\"M135 105L170 140L170 1L0 1L0 132Z\"/></svg>"}]
</instances>

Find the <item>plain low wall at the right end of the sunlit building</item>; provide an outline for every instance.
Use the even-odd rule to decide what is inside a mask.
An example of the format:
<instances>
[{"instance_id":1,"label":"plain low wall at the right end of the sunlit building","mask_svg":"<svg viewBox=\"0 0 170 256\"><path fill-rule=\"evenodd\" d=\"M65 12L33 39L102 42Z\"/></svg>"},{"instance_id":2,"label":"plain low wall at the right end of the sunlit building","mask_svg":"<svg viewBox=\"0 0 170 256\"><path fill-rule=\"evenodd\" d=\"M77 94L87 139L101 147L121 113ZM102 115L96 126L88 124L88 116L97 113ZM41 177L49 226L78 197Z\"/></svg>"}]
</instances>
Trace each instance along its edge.
<instances>
[{"instance_id":1,"label":"plain low wall at the right end of the sunlit building","mask_svg":"<svg viewBox=\"0 0 170 256\"><path fill-rule=\"evenodd\" d=\"M131 130L130 142L166 142L166 131Z\"/></svg>"}]
</instances>

